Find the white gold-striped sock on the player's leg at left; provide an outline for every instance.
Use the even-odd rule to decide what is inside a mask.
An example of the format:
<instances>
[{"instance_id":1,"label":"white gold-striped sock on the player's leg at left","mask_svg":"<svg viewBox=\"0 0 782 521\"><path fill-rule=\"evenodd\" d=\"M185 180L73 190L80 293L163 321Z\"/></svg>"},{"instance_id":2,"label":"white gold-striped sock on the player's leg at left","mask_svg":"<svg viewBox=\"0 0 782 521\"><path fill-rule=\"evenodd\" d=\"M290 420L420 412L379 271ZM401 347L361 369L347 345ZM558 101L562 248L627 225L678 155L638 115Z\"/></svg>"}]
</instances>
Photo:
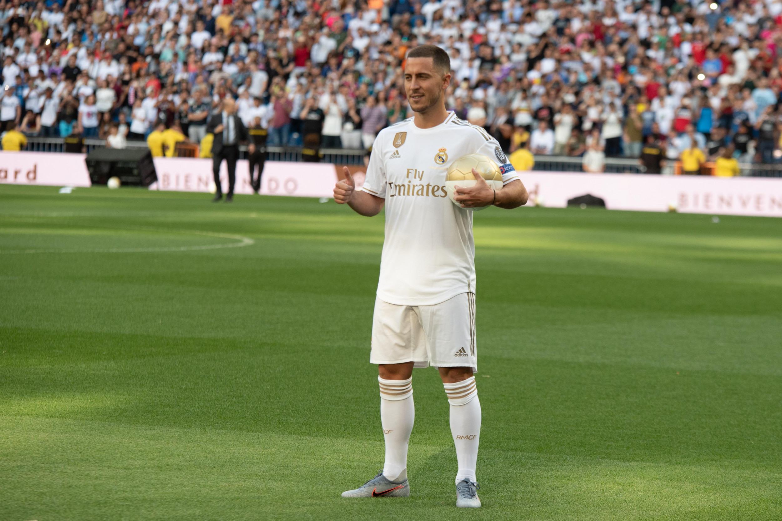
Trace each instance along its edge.
<instances>
[{"instance_id":1,"label":"white gold-striped sock on the player's leg at left","mask_svg":"<svg viewBox=\"0 0 782 521\"><path fill-rule=\"evenodd\" d=\"M413 430L415 407L413 379L386 380L380 384L380 421L386 438L386 464L383 476L396 482L407 480L407 442Z\"/></svg>"}]
</instances>

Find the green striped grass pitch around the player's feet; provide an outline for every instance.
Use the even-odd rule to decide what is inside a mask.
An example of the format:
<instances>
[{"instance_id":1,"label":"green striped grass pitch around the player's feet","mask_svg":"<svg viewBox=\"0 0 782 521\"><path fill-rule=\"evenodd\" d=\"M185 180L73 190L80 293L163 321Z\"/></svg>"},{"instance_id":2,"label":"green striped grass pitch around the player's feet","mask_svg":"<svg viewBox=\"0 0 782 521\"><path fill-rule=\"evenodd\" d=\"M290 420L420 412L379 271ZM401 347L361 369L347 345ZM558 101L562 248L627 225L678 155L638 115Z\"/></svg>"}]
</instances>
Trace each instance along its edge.
<instances>
[{"instance_id":1,"label":"green striped grass pitch around the player's feet","mask_svg":"<svg viewBox=\"0 0 782 521\"><path fill-rule=\"evenodd\" d=\"M383 460L382 238L315 199L0 187L0 520L782 518L782 219L476 214L470 512L433 368L411 498L339 497Z\"/></svg>"}]
</instances>

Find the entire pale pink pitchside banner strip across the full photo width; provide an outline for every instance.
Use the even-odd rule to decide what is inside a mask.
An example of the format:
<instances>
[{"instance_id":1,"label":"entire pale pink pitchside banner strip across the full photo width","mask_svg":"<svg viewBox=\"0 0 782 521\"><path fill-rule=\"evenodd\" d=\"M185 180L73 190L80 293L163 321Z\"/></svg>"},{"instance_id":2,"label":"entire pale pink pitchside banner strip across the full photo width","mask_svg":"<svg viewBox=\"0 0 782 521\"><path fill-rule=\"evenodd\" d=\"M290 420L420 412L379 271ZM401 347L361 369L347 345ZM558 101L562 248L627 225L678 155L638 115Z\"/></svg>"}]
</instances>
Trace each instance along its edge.
<instances>
[{"instance_id":1,"label":"entire pale pink pitchside banner strip across the full photo width","mask_svg":"<svg viewBox=\"0 0 782 521\"><path fill-rule=\"evenodd\" d=\"M84 154L75 153L0 152L0 184L87 187L91 183L84 157ZM154 161L158 182L150 189L210 191L212 160L156 157ZM568 199L591 194L604 199L609 210L664 212L673 207L687 213L782 217L780 178L543 171L520 172L519 175L529 191L530 205L537 201L545 207L565 207ZM225 163L221 166L221 179L226 191L228 171ZM267 161L260 193L332 197L336 181L337 172L331 163ZM235 193L253 193L247 160L236 163Z\"/></svg>"}]
</instances>

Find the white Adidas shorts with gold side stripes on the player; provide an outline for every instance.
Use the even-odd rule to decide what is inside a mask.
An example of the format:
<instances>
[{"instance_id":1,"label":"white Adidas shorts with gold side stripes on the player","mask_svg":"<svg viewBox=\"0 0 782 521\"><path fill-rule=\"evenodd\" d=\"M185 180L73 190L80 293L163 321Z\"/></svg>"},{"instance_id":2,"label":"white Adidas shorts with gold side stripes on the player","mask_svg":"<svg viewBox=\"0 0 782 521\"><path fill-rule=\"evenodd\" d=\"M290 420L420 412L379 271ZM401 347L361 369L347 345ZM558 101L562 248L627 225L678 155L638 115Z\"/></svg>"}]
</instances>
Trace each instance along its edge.
<instances>
[{"instance_id":1,"label":"white Adidas shorts with gold side stripes on the player","mask_svg":"<svg viewBox=\"0 0 782 521\"><path fill-rule=\"evenodd\" d=\"M433 306L398 306L379 298L372 318L372 364L414 362L414 367L472 367L475 293L460 293Z\"/></svg>"}]
</instances>

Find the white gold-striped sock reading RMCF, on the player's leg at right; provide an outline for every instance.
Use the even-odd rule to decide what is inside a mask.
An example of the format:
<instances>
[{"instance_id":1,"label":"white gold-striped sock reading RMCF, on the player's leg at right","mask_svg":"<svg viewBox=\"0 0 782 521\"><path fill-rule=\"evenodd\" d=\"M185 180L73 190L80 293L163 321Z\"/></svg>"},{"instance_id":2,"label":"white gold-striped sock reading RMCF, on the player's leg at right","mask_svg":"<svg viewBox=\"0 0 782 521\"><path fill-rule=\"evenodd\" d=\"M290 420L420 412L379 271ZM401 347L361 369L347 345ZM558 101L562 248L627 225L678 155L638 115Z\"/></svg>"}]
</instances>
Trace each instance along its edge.
<instances>
[{"instance_id":1,"label":"white gold-striped sock reading RMCF, on the player's leg at right","mask_svg":"<svg viewBox=\"0 0 782 521\"><path fill-rule=\"evenodd\" d=\"M454 437L459 472L456 483L465 478L477 481L475 465L481 435L481 402L475 376L457 383L443 383L450 403L450 433Z\"/></svg>"}]
</instances>

